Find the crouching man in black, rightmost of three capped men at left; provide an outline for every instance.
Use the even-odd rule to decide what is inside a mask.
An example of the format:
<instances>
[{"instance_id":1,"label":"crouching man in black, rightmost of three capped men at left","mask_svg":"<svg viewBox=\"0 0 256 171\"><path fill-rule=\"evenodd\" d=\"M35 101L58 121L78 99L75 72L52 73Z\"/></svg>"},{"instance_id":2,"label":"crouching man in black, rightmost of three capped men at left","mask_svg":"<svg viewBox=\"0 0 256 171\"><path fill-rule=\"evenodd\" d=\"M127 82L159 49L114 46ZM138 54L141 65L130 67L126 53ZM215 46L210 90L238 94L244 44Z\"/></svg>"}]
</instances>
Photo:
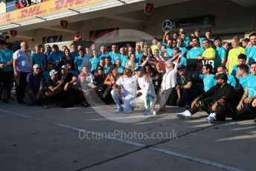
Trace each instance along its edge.
<instances>
[{"instance_id":1,"label":"crouching man in black, rightmost of three capped men at left","mask_svg":"<svg viewBox=\"0 0 256 171\"><path fill-rule=\"evenodd\" d=\"M74 87L77 85L77 77L68 71L68 66L61 67L59 80L63 80L62 90L63 99L60 102L62 107L73 107L74 105Z\"/></svg>"}]
</instances>

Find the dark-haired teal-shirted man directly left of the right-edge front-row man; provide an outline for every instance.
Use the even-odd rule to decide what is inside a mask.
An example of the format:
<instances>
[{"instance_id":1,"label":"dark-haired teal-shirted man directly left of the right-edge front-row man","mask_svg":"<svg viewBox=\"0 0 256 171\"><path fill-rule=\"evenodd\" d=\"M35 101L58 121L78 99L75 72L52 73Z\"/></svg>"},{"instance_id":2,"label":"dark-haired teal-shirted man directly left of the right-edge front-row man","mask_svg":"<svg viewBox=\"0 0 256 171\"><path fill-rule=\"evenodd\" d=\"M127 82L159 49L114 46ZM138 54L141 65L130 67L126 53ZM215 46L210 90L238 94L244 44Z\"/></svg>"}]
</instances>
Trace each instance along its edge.
<instances>
[{"instance_id":1,"label":"dark-haired teal-shirted man directly left of the right-edge front-row man","mask_svg":"<svg viewBox=\"0 0 256 171\"><path fill-rule=\"evenodd\" d=\"M243 90L245 90L247 86L247 78L249 77L249 67L246 64L240 64L237 65L237 68L239 83L243 86Z\"/></svg>"}]
</instances>

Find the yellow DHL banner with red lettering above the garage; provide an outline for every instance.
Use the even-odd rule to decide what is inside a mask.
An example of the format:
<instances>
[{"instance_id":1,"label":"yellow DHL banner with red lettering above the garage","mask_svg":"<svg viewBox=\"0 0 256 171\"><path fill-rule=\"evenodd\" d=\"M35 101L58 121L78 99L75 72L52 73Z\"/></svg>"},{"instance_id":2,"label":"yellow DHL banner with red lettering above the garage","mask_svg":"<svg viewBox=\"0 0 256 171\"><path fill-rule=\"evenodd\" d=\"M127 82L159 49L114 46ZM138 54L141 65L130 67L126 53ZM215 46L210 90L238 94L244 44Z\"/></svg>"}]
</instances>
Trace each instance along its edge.
<instances>
[{"instance_id":1,"label":"yellow DHL banner with red lettering above the garage","mask_svg":"<svg viewBox=\"0 0 256 171\"><path fill-rule=\"evenodd\" d=\"M49 0L34 4L30 7L24 7L19 10L13 10L9 13L0 15L0 25L6 25L10 22L20 22L25 19L31 19L35 16L45 16L51 13L57 13L68 8L74 9L89 4L95 4L106 0Z\"/></svg>"}]
</instances>

